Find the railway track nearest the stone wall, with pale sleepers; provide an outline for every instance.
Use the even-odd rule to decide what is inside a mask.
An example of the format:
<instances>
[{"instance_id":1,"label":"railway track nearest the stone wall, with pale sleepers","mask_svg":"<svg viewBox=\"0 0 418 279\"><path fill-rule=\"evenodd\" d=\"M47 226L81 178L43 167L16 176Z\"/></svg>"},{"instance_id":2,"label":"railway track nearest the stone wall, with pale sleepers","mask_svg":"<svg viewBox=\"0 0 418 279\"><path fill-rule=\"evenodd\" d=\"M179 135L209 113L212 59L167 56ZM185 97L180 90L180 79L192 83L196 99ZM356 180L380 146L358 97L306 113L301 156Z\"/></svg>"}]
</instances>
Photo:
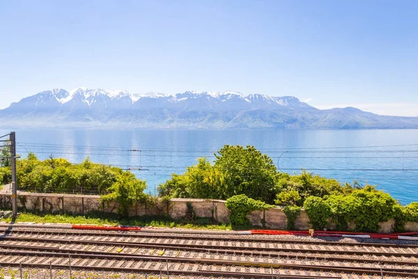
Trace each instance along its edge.
<instances>
[{"instance_id":1,"label":"railway track nearest the stone wall, with pale sleepers","mask_svg":"<svg viewBox=\"0 0 418 279\"><path fill-rule=\"evenodd\" d=\"M68 232L10 232L0 239L49 241L84 241L84 243L113 242L126 246L161 247L182 250L218 248L236 251L263 252L315 252L334 255L373 255L387 257L418 257L417 245L394 245L391 243L346 243L332 241L289 241L284 239L238 239L207 238L206 236L155 236L149 234L109 234L109 233L68 233ZM81 242L82 243L82 242Z\"/></svg>"}]
</instances>

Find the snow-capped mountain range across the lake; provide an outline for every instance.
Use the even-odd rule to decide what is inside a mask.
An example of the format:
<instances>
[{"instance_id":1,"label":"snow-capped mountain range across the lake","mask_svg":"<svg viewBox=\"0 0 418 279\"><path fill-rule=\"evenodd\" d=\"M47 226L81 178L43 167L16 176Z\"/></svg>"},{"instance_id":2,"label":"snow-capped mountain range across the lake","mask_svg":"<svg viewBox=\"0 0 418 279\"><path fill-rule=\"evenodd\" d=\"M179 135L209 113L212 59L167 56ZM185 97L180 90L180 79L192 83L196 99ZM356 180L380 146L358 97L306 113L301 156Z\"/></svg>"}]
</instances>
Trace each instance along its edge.
<instances>
[{"instance_id":1,"label":"snow-capped mountain range across the lake","mask_svg":"<svg viewBox=\"0 0 418 279\"><path fill-rule=\"evenodd\" d=\"M0 110L0 127L31 128L418 128L418 117L354 107L318 110L293 96L186 91L175 96L53 89Z\"/></svg>"}]
</instances>

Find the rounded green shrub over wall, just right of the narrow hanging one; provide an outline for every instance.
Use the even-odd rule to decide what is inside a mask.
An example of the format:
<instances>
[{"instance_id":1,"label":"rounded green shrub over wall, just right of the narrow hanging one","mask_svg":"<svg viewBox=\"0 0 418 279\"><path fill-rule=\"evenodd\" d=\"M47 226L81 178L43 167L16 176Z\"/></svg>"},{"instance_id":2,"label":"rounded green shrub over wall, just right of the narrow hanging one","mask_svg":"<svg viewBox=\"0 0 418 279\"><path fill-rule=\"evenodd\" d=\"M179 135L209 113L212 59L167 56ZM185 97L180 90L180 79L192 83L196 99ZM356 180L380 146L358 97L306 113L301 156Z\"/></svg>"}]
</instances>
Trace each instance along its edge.
<instances>
[{"instance_id":1,"label":"rounded green shrub over wall, just right of the narrow hanging one","mask_svg":"<svg viewBox=\"0 0 418 279\"><path fill-rule=\"evenodd\" d=\"M331 217L330 205L321 197L309 196L303 204L311 225L314 229L324 229L328 225L328 218Z\"/></svg>"}]
</instances>

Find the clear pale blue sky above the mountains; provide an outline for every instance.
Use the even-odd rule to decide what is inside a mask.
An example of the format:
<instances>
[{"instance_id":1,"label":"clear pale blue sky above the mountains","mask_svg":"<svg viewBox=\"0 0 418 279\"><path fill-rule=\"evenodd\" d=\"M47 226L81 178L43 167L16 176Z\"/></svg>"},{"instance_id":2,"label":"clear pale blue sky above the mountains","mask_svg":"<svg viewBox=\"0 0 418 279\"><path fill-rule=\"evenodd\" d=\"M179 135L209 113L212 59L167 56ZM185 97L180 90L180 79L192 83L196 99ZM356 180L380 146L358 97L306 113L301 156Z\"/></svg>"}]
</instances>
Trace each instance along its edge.
<instances>
[{"instance_id":1,"label":"clear pale blue sky above the mountains","mask_svg":"<svg viewBox=\"0 0 418 279\"><path fill-rule=\"evenodd\" d=\"M240 91L418 116L418 1L0 1L0 108L54 88Z\"/></svg>"}]
</instances>

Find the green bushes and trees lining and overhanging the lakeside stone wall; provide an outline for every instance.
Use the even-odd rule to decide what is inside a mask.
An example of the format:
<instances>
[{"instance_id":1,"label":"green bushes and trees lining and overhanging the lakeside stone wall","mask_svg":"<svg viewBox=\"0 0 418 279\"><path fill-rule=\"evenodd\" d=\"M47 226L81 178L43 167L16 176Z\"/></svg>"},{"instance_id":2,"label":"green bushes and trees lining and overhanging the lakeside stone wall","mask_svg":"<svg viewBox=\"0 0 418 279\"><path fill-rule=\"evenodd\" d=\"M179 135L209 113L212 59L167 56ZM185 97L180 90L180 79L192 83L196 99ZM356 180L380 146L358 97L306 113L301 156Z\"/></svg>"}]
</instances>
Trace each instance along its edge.
<instances>
[{"instance_id":1,"label":"green bushes and trees lining and overhanging the lakeside stone wall","mask_svg":"<svg viewBox=\"0 0 418 279\"><path fill-rule=\"evenodd\" d=\"M10 182L10 167L7 160L1 164L0 182L6 184ZM187 203L180 223L171 222L169 206L173 198L226 200L224 204L234 228L250 227L251 212L268 211L277 206L286 214L287 229L295 229L302 213L307 215L314 229L377 232L380 223L394 220L392 229L402 232L405 223L418 222L418 202L402 206L374 186L361 186L356 182L341 185L335 179L309 172L294 175L279 172L272 159L253 146L226 145L217 151L213 163L198 158L196 165L187 167L183 174L172 174L171 179L159 186L159 199L144 193L146 181L137 179L134 174L88 159L75 165L53 156L38 160L30 153L17 161L17 183L20 190L26 192L97 193L101 196L102 210L94 217L111 218L112 222L123 219L130 223L127 216L134 215L132 211L138 211L141 206L146 207L146 213L160 216L158 220L170 225L219 222L213 218L213 207L208 209L212 211L212 218L197 218L192 203ZM105 210L109 207L116 209L117 215L109 217L112 210ZM150 220L149 216L144 218ZM261 226L264 225L265 218L261 218Z\"/></svg>"}]
</instances>

